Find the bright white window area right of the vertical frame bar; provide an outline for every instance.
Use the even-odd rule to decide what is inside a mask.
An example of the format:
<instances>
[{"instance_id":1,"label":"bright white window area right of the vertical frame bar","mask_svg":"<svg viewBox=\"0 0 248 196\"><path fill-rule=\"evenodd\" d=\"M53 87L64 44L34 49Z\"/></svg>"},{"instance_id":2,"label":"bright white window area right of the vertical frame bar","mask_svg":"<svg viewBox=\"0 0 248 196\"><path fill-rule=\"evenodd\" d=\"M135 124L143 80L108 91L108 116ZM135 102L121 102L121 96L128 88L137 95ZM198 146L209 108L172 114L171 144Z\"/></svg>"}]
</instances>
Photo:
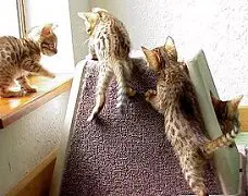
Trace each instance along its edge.
<instances>
[{"instance_id":1,"label":"bright white window area right of the vertical frame bar","mask_svg":"<svg viewBox=\"0 0 248 196\"><path fill-rule=\"evenodd\" d=\"M71 72L74 69L71 22L67 0L25 0L25 22L27 29L46 23L59 25L58 53L44 57L41 63L55 73Z\"/></svg>"}]
</instances>

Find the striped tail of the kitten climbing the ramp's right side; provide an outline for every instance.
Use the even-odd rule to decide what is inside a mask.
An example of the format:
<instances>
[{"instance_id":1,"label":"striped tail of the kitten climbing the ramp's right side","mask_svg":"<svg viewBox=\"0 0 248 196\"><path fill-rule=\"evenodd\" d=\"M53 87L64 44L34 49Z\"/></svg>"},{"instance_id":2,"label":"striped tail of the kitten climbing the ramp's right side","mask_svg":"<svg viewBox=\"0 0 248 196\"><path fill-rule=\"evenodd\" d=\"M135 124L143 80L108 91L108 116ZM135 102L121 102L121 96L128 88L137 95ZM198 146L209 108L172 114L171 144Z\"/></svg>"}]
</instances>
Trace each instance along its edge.
<instances>
[{"instance_id":1,"label":"striped tail of the kitten climbing the ramp's right side","mask_svg":"<svg viewBox=\"0 0 248 196\"><path fill-rule=\"evenodd\" d=\"M228 147L230 145L232 145L234 143L234 139L238 134L238 131L239 131L239 128L234 126L234 128L231 131L231 133L226 133L226 134L218 137L216 139L204 144L203 151L207 155L210 155L219 148Z\"/></svg>"}]
</instances>

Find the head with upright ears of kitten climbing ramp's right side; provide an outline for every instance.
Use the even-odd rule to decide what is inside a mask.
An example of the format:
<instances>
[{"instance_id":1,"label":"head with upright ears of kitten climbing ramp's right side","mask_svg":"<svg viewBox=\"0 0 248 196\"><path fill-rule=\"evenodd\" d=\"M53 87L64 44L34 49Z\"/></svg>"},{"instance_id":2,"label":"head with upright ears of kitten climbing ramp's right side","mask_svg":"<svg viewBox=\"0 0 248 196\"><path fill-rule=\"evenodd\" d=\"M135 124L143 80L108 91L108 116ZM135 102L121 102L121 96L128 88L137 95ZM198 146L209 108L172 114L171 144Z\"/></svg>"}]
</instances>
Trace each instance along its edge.
<instances>
[{"instance_id":1,"label":"head with upright ears of kitten climbing ramp's right side","mask_svg":"<svg viewBox=\"0 0 248 196\"><path fill-rule=\"evenodd\" d=\"M164 65L170 62L177 62L175 44L170 36L166 38L165 45L162 47L157 47L152 50L145 47L141 47L141 49L146 56L148 66L156 72L162 70Z\"/></svg>"}]
</instances>

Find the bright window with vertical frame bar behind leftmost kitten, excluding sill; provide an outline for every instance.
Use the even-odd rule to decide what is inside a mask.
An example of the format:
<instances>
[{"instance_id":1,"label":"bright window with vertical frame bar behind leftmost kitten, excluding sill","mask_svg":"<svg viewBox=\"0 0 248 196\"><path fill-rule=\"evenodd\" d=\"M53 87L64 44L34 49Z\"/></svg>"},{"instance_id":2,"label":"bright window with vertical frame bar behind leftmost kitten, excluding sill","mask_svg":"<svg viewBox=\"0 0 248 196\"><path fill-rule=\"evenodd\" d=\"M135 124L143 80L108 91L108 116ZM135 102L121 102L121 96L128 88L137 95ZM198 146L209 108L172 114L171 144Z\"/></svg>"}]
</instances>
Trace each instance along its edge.
<instances>
[{"instance_id":1,"label":"bright window with vertical frame bar behind leftmost kitten, excluding sill","mask_svg":"<svg viewBox=\"0 0 248 196\"><path fill-rule=\"evenodd\" d=\"M18 8L18 9L17 9ZM8 0L0 2L0 35L21 37L34 26L58 24L58 53L44 56L41 64L54 73L74 70L71 22L67 0ZM26 28L26 29L25 29Z\"/></svg>"}]
</instances>

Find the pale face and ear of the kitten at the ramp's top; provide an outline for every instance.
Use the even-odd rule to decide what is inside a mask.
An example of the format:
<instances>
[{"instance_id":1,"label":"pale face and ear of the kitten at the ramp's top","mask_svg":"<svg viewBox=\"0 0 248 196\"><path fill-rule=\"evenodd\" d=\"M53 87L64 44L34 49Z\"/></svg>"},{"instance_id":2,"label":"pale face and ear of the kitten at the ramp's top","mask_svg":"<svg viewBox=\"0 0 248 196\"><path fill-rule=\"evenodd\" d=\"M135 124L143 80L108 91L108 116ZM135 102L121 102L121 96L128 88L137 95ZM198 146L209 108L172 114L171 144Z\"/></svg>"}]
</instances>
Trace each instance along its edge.
<instances>
[{"instance_id":1,"label":"pale face and ear of the kitten at the ramp's top","mask_svg":"<svg viewBox=\"0 0 248 196\"><path fill-rule=\"evenodd\" d=\"M85 30L88 35L91 35L98 21L98 13L94 12L78 12L77 15L85 22Z\"/></svg>"}]
</instances>

